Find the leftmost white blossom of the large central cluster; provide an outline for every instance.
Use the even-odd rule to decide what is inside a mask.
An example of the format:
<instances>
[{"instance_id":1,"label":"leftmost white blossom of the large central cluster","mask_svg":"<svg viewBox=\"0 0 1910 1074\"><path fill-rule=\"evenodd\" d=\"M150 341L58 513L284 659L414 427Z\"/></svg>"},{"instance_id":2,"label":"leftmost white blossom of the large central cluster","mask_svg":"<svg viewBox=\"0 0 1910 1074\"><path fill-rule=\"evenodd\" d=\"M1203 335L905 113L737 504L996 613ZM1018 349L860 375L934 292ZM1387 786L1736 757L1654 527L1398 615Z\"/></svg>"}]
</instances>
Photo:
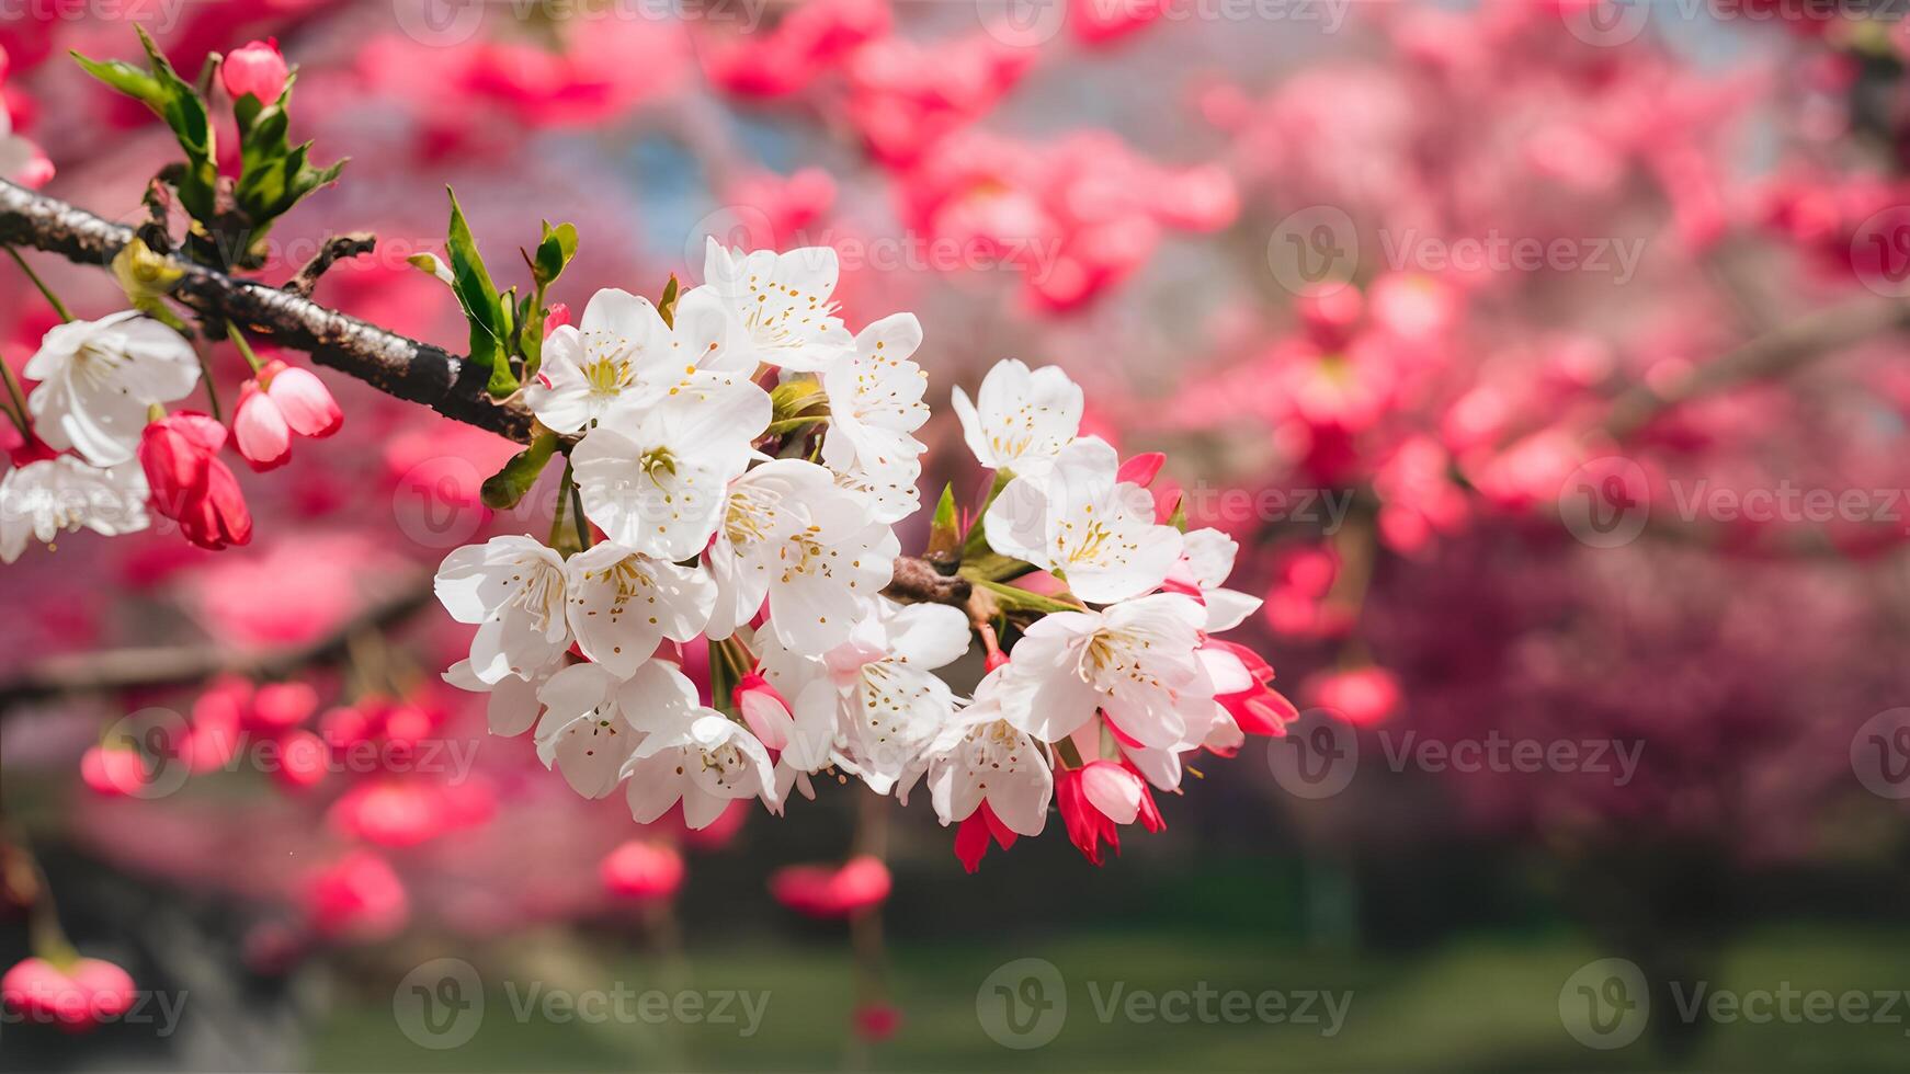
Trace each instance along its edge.
<instances>
[{"instance_id":1,"label":"leftmost white blossom of the large central cluster","mask_svg":"<svg viewBox=\"0 0 1910 1074\"><path fill-rule=\"evenodd\" d=\"M533 677L571 643L563 616L563 559L527 536L495 536L455 549L437 567L437 601L478 624L470 673L485 685Z\"/></svg>"}]
</instances>

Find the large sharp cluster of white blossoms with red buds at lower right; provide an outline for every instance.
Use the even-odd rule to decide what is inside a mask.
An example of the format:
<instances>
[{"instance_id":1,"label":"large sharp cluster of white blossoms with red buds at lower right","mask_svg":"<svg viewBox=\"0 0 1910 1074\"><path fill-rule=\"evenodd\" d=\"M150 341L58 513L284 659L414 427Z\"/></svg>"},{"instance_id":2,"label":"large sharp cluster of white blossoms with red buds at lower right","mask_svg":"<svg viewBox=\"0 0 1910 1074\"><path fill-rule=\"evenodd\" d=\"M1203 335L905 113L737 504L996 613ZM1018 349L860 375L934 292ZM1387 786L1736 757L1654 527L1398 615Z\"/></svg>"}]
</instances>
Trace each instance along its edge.
<instances>
[{"instance_id":1,"label":"large sharp cluster of white blossoms with red buds at lower right","mask_svg":"<svg viewBox=\"0 0 1910 1074\"><path fill-rule=\"evenodd\" d=\"M903 801L926 780L970 868L991 837L1039 834L1050 799L1098 862L1115 826L1161 826L1150 786L1178 788L1180 754L1293 715L1259 656L1211 637L1259 607L1224 588L1238 547L1165 525L1144 488L1159 456L1123 465L1081 437L1062 370L1005 361L955 393L997 475L959 565L976 597L884 595L894 525L919 509L923 330L898 313L852 334L837 271L831 248L711 240L705 284L661 307L602 290L577 324L552 319L523 397L577 437L569 488L548 544L445 557L437 597L478 628L445 679L491 694L495 733L535 727L577 794L623 788L638 822L682 803L701 828L749 797L781 813L819 773ZM974 635L987 675L961 698L936 671Z\"/></svg>"}]
</instances>

